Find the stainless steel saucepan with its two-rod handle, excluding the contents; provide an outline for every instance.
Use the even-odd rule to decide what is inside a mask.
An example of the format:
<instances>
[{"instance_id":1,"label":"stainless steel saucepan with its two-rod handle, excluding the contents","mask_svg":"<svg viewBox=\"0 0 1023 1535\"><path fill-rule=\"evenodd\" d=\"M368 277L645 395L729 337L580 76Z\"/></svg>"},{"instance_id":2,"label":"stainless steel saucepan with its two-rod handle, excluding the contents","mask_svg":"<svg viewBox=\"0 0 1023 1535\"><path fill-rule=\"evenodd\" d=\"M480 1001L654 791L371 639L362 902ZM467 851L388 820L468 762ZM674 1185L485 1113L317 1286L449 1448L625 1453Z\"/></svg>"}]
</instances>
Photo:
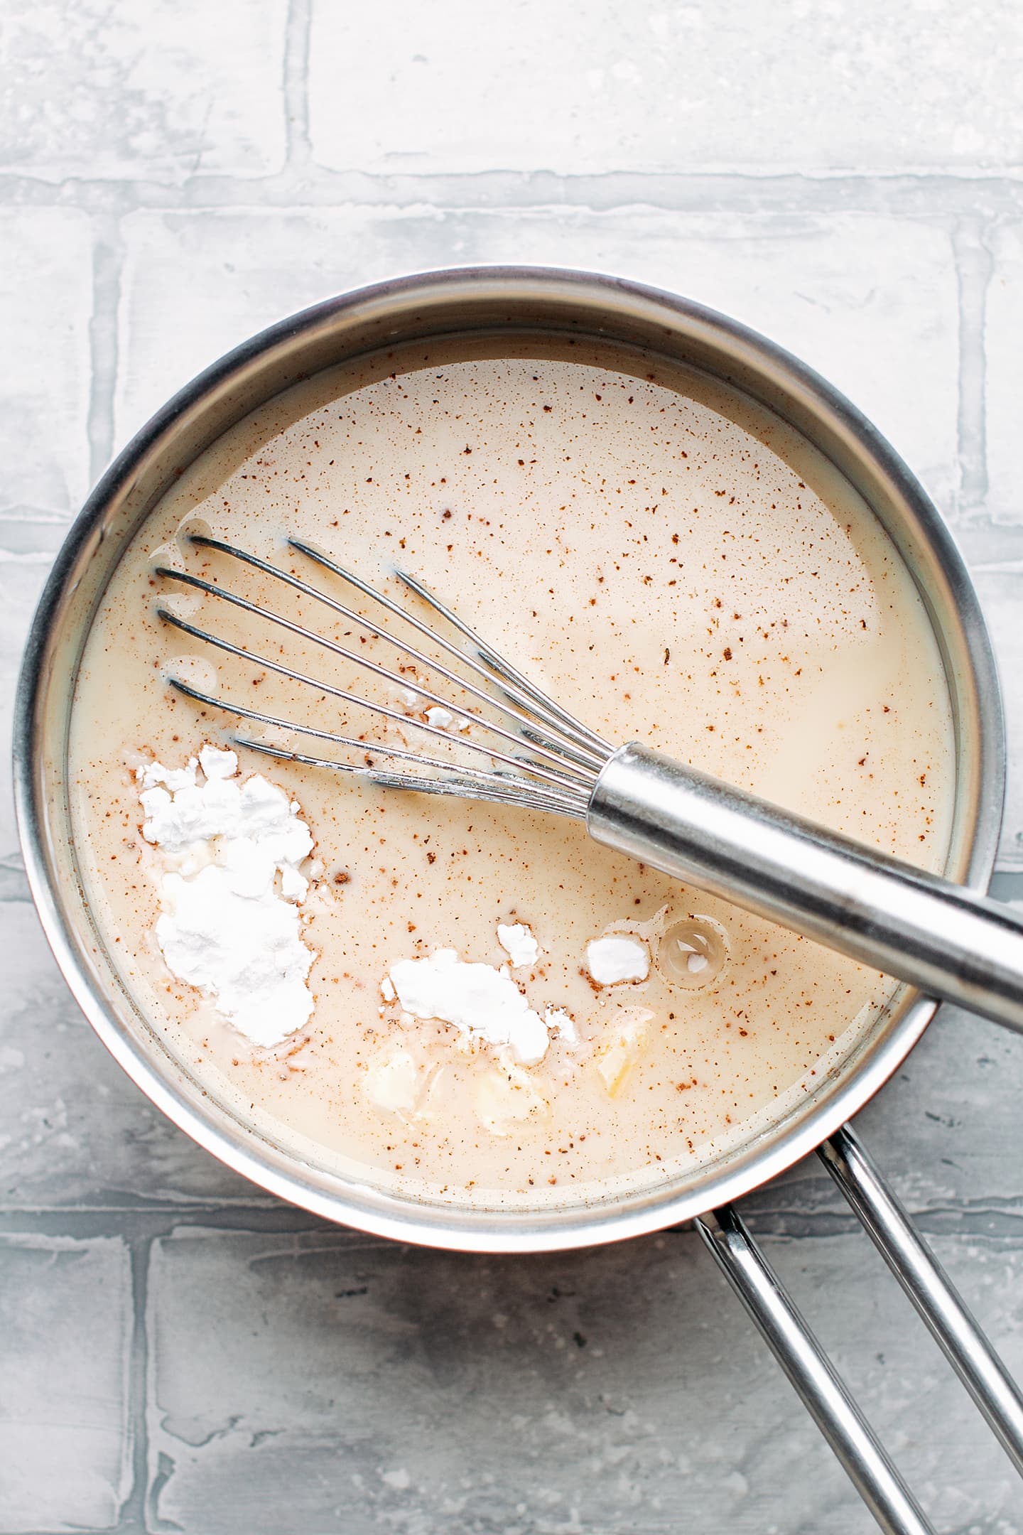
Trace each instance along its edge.
<instances>
[{"instance_id":1,"label":"stainless steel saucepan with its two-rod handle, excluding the contents","mask_svg":"<svg viewBox=\"0 0 1023 1535\"><path fill-rule=\"evenodd\" d=\"M962 560L905 464L840 394L735 321L612 278L475 269L403 278L331 299L245 342L166 405L103 477L43 593L15 708L15 797L25 864L57 961L107 1048L195 1141L319 1216L405 1242L528 1253L586 1246L693 1220L882 1529L929 1530L819 1345L755 1246L733 1200L817 1151L1017 1469L1023 1400L845 1121L891 1076L936 1004L903 992L845 1061L767 1130L655 1190L535 1210L466 1210L356 1182L299 1160L207 1096L137 1010L83 895L67 803L67 723L97 603L150 508L199 453L256 407L321 368L410 341L526 336L598 341L683 362L767 407L867 500L916 580L956 725L949 878L983 892L1005 777L998 685Z\"/></svg>"}]
</instances>

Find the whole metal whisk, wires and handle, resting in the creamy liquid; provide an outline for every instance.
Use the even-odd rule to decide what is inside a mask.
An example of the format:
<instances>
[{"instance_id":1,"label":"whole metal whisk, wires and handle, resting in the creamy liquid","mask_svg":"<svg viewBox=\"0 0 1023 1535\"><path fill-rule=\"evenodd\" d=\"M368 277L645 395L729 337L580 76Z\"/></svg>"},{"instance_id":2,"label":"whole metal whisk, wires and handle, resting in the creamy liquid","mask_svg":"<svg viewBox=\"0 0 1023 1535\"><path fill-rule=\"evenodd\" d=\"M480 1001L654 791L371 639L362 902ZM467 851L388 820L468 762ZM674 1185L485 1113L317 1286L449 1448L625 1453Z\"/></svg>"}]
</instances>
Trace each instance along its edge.
<instances>
[{"instance_id":1,"label":"whole metal whisk, wires and handle, resting in the creamy liquid","mask_svg":"<svg viewBox=\"0 0 1023 1535\"><path fill-rule=\"evenodd\" d=\"M359 614L310 582L245 550L202 534L193 534L190 542L230 556L282 582L301 597L322 603L362 634L394 646L417 668L468 694L474 701L465 706L419 680L416 685L416 694L433 708L468 720L472 734L452 732L428 717L410 718L390 705L235 645L163 606L158 609L161 619L195 640L215 645L247 663L255 662L321 695L368 709L402 731L411 728L425 737L440 738L446 749L454 741L457 751L483 758L488 766L466 768L457 757L429 755L299 725L170 678L178 692L209 708L225 709L290 735L328 741L345 748L350 755L342 760L314 757L245 737L236 738L239 744L288 761L354 774L383 787L489 800L574 817L586 823L598 843L819 939L919 985L931 996L960 1002L1023 1032L1023 923L1000 903L825 830L638 741L615 748L541 692L403 571L394 574L471 649L439 634L408 608L299 539L288 539L288 546L379 605L382 619L390 614L410 625L429 643L433 654L411 645L383 622ZM169 566L160 566L156 574L268 620L304 645L319 646L339 660L354 663L377 682L406 686L400 671L391 671L370 655L239 593ZM437 652L445 660L439 660ZM452 669L448 660L466 668L471 680ZM480 712L480 706L497 718Z\"/></svg>"}]
</instances>

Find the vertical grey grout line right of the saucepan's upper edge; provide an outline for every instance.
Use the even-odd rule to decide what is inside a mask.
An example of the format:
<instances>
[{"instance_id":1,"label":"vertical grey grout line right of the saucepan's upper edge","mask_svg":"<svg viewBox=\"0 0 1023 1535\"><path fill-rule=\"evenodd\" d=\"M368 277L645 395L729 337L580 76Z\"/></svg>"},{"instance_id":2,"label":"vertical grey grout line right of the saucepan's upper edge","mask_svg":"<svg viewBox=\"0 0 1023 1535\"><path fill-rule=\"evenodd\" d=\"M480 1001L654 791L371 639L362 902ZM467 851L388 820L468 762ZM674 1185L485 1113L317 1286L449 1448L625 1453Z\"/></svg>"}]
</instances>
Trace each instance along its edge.
<instances>
[{"instance_id":1,"label":"vertical grey grout line right of the saucepan's upper edge","mask_svg":"<svg viewBox=\"0 0 1023 1535\"><path fill-rule=\"evenodd\" d=\"M960 220L952 235L959 281L959 488L957 511L983 510L988 497L985 322L991 250L980 218Z\"/></svg>"}]
</instances>

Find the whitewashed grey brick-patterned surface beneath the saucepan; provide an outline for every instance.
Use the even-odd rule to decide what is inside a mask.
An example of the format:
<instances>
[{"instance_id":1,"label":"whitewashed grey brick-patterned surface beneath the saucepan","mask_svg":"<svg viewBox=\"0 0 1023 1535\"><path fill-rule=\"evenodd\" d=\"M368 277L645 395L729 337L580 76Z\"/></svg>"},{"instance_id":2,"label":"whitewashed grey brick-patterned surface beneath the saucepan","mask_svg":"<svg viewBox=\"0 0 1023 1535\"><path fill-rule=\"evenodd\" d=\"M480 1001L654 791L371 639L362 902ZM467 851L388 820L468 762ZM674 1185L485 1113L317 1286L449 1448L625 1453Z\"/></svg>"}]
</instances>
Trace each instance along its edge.
<instances>
[{"instance_id":1,"label":"whitewashed grey brick-patterned surface beneath the saucepan","mask_svg":"<svg viewBox=\"0 0 1023 1535\"><path fill-rule=\"evenodd\" d=\"M90 480L225 347L552 261L799 352L923 477L1006 685L1023 898L1023 11L1009 0L2 0L0 717ZM690 1231L414 1251L173 1130L46 950L0 791L0 1532L854 1535ZM1023 1374L1023 1041L939 1018L860 1131ZM747 1202L937 1527L1023 1487L807 1164Z\"/></svg>"}]
</instances>

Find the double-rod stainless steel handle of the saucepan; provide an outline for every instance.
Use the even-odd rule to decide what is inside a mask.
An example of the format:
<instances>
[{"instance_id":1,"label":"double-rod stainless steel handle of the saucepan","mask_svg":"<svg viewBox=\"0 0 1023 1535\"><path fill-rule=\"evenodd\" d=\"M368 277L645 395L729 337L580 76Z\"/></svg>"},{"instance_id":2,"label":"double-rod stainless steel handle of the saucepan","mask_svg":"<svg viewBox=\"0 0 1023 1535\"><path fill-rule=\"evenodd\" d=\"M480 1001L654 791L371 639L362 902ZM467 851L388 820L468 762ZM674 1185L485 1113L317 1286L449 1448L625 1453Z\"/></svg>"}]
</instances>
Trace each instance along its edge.
<instances>
[{"instance_id":1,"label":"double-rod stainless steel handle of the saucepan","mask_svg":"<svg viewBox=\"0 0 1023 1535\"><path fill-rule=\"evenodd\" d=\"M848 1125L819 1148L819 1156L1014 1466L1023 1472L1023 1395L940 1263ZM716 1210L698 1219L696 1230L877 1524L890 1535L931 1530L738 1211L730 1205Z\"/></svg>"}]
</instances>

